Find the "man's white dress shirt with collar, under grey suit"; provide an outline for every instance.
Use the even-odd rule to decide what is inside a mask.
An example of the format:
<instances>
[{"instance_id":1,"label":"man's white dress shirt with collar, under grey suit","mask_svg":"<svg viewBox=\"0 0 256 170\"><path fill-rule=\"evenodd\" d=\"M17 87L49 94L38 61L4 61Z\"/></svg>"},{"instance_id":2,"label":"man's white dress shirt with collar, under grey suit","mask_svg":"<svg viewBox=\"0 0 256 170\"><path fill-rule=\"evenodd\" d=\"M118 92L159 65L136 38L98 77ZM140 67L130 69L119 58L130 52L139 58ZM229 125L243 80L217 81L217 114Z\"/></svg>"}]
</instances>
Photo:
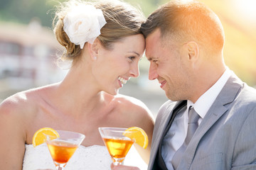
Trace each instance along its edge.
<instances>
[{"instance_id":1,"label":"man's white dress shirt with collar, under grey suit","mask_svg":"<svg viewBox=\"0 0 256 170\"><path fill-rule=\"evenodd\" d=\"M210 106L213 105L213 102L217 98L218 94L220 94L221 89L223 89L223 86L228 81L230 75L231 71L227 68L223 75L220 77L220 79L218 79L218 81L216 81L216 83L213 84L213 86L211 86L208 91L206 91L200 98L198 98L196 103L193 103L192 101L187 101L188 103L186 109L179 111L178 115L176 115L176 118L174 118L174 122L171 124L171 128L164 137L161 146L161 154L164 158L167 169L174 169L171 164L171 159L172 157L174 157L174 153L178 150L179 147L181 147L186 138L186 133L188 129L189 106L193 106L196 113L200 115L200 118L198 120L198 125L200 125Z\"/></svg>"}]
</instances>

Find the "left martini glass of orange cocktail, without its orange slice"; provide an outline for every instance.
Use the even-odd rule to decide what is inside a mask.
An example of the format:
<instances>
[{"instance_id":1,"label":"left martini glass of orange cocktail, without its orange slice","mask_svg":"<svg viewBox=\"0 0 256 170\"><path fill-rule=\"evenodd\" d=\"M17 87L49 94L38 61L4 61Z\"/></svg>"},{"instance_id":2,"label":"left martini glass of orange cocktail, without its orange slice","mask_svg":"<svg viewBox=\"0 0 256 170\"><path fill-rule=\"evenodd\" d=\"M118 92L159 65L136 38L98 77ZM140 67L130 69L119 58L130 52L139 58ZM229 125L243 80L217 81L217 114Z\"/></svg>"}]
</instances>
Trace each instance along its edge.
<instances>
[{"instance_id":1,"label":"left martini glass of orange cocktail, without its orange slice","mask_svg":"<svg viewBox=\"0 0 256 170\"><path fill-rule=\"evenodd\" d=\"M56 130L60 137L56 138L46 135L46 144L50 151L50 156L57 170L63 170L68 163L70 157L73 156L75 150L78 149L85 135L78 132L70 132L65 130Z\"/></svg>"}]
</instances>

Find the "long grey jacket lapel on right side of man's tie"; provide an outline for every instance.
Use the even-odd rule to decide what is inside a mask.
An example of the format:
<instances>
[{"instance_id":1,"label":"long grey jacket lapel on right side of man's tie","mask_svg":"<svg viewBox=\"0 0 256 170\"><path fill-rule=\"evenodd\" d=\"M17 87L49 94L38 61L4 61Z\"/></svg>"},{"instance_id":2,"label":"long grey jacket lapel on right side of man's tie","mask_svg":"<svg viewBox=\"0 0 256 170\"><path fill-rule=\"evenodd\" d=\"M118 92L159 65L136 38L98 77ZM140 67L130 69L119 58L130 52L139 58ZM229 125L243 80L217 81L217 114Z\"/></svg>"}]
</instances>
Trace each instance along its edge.
<instances>
[{"instance_id":1,"label":"long grey jacket lapel on right side of man's tie","mask_svg":"<svg viewBox=\"0 0 256 170\"><path fill-rule=\"evenodd\" d=\"M232 103L235 100L235 97L239 94L242 86L242 81L238 81L240 81L240 79L232 75L228 79L223 89L220 91L220 94L215 99L209 111L206 113L205 118L203 118L201 124L199 125L191 141L189 142L189 145L184 154L184 159L181 161L180 164L183 164L182 169L185 169L184 166L186 166L186 169L189 169L201 138L218 121L218 119L228 111L227 105L229 103Z\"/></svg>"}]
</instances>

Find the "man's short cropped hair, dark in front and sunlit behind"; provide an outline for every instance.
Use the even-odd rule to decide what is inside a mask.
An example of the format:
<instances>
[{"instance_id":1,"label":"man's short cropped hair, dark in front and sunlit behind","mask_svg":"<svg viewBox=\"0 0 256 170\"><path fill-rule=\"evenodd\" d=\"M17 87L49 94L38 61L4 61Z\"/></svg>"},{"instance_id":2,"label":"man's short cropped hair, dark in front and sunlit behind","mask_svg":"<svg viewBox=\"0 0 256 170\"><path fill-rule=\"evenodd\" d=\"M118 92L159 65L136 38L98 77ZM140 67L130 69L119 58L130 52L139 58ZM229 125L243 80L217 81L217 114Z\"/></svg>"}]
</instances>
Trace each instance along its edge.
<instances>
[{"instance_id":1,"label":"man's short cropped hair, dark in front and sunlit behind","mask_svg":"<svg viewBox=\"0 0 256 170\"><path fill-rule=\"evenodd\" d=\"M193 40L211 52L223 50L225 35L218 16L198 1L173 0L160 6L141 26L145 38L156 28L166 40Z\"/></svg>"}]
</instances>

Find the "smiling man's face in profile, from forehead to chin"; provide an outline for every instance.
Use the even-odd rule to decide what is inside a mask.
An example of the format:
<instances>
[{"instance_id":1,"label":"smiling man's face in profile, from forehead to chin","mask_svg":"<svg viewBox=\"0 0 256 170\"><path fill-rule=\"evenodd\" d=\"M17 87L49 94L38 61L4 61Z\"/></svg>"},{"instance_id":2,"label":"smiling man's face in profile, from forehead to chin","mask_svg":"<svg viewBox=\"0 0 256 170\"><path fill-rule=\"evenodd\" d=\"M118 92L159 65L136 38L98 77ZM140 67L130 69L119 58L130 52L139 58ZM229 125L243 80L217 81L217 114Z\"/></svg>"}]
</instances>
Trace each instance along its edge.
<instances>
[{"instance_id":1,"label":"smiling man's face in profile, from forehead to chin","mask_svg":"<svg viewBox=\"0 0 256 170\"><path fill-rule=\"evenodd\" d=\"M188 84L186 52L171 38L163 40L156 29L146 38L146 58L150 62L149 79L158 79L161 89L171 101L184 100Z\"/></svg>"}]
</instances>

